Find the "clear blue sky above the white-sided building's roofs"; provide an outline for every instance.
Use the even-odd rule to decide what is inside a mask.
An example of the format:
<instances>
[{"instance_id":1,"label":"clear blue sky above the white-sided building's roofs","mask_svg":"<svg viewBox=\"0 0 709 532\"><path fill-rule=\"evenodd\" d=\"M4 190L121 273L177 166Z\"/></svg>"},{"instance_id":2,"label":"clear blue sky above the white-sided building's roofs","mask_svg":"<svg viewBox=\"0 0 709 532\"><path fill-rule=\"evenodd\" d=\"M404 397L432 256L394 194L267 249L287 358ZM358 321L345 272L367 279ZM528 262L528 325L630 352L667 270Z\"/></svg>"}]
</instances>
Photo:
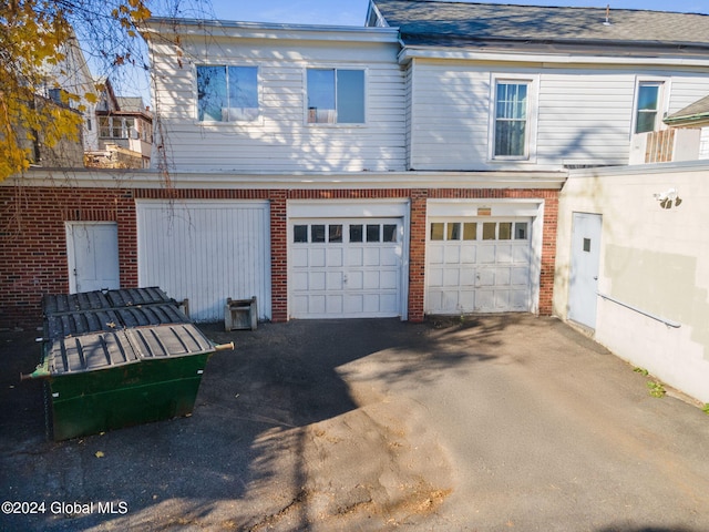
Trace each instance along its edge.
<instances>
[{"instance_id":1,"label":"clear blue sky above the white-sided building's roofs","mask_svg":"<svg viewBox=\"0 0 709 532\"><path fill-rule=\"evenodd\" d=\"M479 3L649 9L709 14L709 0L476 0ZM363 25L368 0L212 0L215 18L249 22Z\"/></svg>"}]
</instances>

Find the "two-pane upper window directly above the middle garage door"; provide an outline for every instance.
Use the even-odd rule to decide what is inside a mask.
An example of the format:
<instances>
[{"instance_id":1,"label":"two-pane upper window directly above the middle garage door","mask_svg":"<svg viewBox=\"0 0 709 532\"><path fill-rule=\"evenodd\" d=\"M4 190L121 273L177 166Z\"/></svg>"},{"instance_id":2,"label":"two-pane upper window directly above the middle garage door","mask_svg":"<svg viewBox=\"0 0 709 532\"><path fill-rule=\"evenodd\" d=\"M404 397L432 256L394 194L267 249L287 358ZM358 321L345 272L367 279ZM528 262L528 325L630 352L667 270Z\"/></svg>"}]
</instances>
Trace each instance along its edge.
<instances>
[{"instance_id":1,"label":"two-pane upper window directly above the middle garage door","mask_svg":"<svg viewBox=\"0 0 709 532\"><path fill-rule=\"evenodd\" d=\"M308 69L308 123L363 124L364 71Z\"/></svg>"}]
</instances>

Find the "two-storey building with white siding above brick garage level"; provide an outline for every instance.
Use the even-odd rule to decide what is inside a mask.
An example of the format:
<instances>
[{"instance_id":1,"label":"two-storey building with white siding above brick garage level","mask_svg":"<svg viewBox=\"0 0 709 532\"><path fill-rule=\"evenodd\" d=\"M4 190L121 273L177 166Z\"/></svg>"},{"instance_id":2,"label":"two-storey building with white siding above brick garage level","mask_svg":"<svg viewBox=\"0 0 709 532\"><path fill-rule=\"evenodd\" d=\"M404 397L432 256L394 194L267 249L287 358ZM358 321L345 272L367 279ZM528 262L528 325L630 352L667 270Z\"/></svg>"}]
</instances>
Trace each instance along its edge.
<instances>
[{"instance_id":1,"label":"two-storey building with white siding above brick garage level","mask_svg":"<svg viewBox=\"0 0 709 532\"><path fill-rule=\"evenodd\" d=\"M552 314L569 168L627 165L634 134L709 91L709 17L605 22L394 0L363 28L154 19L154 170L27 176L42 223L0 241L25 257L0 266L0 323L119 285L196 320L251 296L276 321Z\"/></svg>"}]
</instances>

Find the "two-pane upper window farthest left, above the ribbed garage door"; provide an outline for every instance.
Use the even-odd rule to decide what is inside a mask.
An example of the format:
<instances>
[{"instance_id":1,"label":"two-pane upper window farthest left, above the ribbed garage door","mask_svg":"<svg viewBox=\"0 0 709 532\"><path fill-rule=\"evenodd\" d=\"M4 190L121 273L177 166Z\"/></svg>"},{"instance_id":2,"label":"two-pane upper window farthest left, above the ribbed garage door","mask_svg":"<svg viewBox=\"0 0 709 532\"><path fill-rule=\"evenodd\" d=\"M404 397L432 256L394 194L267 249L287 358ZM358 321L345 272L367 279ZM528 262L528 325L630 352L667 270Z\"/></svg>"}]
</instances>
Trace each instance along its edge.
<instances>
[{"instance_id":1,"label":"two-pane upper window farthest left, above the ribbed garage door","mask_svg":"<svg viewBox=\"0 0 709 532\"><path fill-rule=\"evenodd\" d=\"M197 66L197 120L253 122L258 117L257 66Z\"/></svg>"}]
</instances>

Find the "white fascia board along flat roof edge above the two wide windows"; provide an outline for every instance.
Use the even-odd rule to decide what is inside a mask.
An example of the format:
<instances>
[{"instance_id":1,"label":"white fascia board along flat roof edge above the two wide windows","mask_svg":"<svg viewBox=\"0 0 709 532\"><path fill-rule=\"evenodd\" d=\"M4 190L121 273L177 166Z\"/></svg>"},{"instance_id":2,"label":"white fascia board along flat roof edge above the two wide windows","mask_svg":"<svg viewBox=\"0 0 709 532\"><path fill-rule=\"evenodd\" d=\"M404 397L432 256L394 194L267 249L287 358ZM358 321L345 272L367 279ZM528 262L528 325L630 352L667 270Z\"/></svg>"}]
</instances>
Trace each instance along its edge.
<instances>
[{"instance_id":1,"label":"white fascia board along flat roof edge above the two wide windows","mask_svg":"<svg viewBox=\"0 0 709 532\"><path fill-rule=\"evenodd\" d=\"M275 24L197 19L150 19L145 33L186 37L223 37L235 39L278 39L300 41L393 42L399 43L395 28L353 25Z\"/></svg>"}]
</instances>

